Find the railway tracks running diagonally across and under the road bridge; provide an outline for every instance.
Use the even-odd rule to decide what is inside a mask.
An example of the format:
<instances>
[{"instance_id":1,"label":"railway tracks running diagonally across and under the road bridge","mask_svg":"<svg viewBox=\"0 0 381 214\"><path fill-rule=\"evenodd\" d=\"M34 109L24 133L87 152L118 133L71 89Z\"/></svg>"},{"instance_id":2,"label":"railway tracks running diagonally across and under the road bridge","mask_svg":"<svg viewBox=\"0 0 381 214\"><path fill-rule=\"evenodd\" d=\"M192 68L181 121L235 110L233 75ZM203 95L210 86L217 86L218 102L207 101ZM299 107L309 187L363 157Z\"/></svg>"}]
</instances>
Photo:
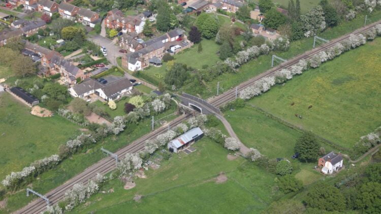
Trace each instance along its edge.
<instances>
[{"instance_id":1,"label":"railway tracks running diagonally across and under the road bridge","mask_svg":"<svg viewBox=\"0 0 381 214\"><path fill-rule=\"evenodd\" d=\"M262 73L256 77L251 78L250 80L243 82L240 85L238 85L237 86L238 91L252 85L256 81L258 81L264 77L269 77L269 76L273 75L279 69L291 67L292 65L298 63L300 59L308 59L312 55L316 54L317 52L326 50L326 49L334 46L335 44L347 39L348 37L350 37L351 34L359 34L359 33L365 32L365 31L369 30L371 27L373 27L379 23L381 23L381 21L367 25L367 26L362 27L360 29L357 29L351 33L347 33L338 39L332 40L327 44L324 44L318 48L307 51L301 55L298 55L298 56L292 58L291 60L289 60L287 62L284 62L284 63L282 63L276 67L273 67L273 68L269 69L267 72ZM210 104L216 106L216 107L219 107L219 106L221 106L221 105L223 105L229 101L232 101L234 99L235 99L235 89L230 89L229 91L227 91L221 95L212 97L208 102ZM185 119L187 119L188 117L189 117L189 115L180 116L179 118L177 118L173 122L171 122L171 124L177 125L177 124L181 123L182 121L184 121ZM116 154L118 154L118 156L122 156L126 153L139 152L144 148L144 141L145 140L151 139L158 134L164 133L165 131L166 131L166 128L161 127L159 129L151 132L151 133L148 133L148 134L144 135L143 137L132 142L132 144L118 150L116 152ZM88 182L88 180L90 180L94 176L96 176L97 173L105 174L105 173L112 171L114 168L115 168L114 159L112 159L110 157L104 158L101 161L97 162L96 164L93 164L92 166L88 167L87 169L85 169L83 172L76 175L72 179L68 180L65 184L63 184L63 185L53 189L52 191L48 192L47 194L45 194L45 196L47 196L49 198L51 204L55 204L59 200L61 200L65 197L65 192L67 190L69 190L70 188L72 188L74 184L76 184L76 183L86 184ZM39 199L36 199L36 200L30 202L28 205L26 205L23 208L15 211L14 213L40 213L40 212L44 211L45 209L46 209L46 202L39 198Z\"/></svg>"}]
</instances>

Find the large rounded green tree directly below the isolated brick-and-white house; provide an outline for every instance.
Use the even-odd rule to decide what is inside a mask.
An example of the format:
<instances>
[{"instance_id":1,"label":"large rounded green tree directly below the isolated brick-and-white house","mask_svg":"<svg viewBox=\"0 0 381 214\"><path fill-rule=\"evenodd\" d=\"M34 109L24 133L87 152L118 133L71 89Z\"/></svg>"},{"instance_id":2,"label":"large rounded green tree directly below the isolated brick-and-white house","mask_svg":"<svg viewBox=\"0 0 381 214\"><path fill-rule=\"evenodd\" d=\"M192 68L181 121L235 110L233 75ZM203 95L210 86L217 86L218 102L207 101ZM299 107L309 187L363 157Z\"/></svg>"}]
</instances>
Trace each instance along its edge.
<instances>
[{"instance_id":1,"label":"large rounded green tree directly below the isolated brick-and-white house","mask_svg":"<svg viewBox=\"0 0 381 214\"><path fill-rule=\"evenodd\" d=\"M342 211L345 209L345 198L340 191L324 182L315 185L305 197L307 207L324 211Z\"/></svg>"}]
</instances>

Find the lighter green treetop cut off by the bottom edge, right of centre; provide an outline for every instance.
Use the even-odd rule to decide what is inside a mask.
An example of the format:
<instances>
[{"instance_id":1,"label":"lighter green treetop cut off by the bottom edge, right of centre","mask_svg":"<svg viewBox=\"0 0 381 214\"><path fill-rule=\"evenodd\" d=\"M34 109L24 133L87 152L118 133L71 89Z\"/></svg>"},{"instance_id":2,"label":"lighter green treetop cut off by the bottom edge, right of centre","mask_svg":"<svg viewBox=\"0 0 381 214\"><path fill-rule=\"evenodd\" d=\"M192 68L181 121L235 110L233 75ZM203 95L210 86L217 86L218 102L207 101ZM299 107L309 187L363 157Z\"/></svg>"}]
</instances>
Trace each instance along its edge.
<instances>
[{"instance_id":1,"label":"lighter green treetop cut off by the bottom edge, right of centre","mask_svg":"<svg viewBox=\"0 0 381 214\"><path fill-rule=\"evenodd\" d=\"M304 205L302 202L295 199L284 199L275 201L270 204L263 214L302 214L304 213Z\"/></svg>"}]
</instances>

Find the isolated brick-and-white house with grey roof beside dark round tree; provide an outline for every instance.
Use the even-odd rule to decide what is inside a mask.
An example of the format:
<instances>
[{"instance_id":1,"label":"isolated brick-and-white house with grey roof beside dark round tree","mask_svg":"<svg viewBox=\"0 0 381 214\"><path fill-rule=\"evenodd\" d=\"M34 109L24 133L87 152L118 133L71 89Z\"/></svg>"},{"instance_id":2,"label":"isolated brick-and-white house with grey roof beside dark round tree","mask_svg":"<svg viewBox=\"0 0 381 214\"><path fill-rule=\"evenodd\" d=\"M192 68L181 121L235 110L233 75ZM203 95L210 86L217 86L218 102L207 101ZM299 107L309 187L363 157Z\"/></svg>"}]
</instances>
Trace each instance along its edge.
<instances>
[{"instance_id":1,"label":"isolated brick-and-white house with grey roof beside dark round tree","mask_svg":"<svg viewBox=\"0 0 381 214\"><path fill-rule=\"evenodd\" d=\"M330 152L327 155L319 158L317 161L317 166L321 169L324 174L332 174L342 168L342 156L340 154L335 154Z\"/></svg>"}]
</instances>

